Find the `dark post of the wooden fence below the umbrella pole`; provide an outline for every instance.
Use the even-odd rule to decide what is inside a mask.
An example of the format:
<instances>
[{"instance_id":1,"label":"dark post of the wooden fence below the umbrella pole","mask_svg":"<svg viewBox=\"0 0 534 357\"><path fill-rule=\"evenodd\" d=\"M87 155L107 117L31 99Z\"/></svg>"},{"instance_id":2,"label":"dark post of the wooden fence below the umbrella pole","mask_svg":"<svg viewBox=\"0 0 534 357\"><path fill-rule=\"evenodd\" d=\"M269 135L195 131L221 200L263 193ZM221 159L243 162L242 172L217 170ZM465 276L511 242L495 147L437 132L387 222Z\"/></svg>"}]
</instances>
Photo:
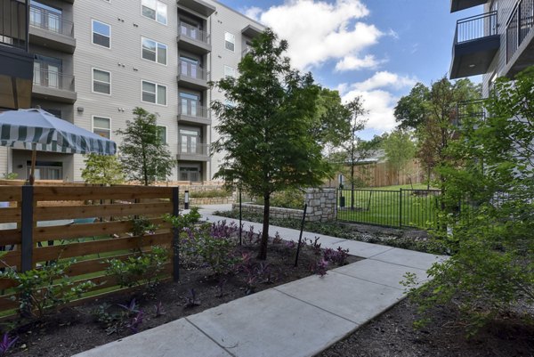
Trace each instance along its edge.
<instances>
[{"instance_id":1,"label":"dark post of the wooden fence below the umbrella pole","mask_svg":"<svg viewBox=\"0 0 534 357\"><path fill-rule=\"evenodd\" d=\"M34 186L22 186L22 207L20 207L20 271L33 269L33 199Z\"/></svg>"}]
</instances>

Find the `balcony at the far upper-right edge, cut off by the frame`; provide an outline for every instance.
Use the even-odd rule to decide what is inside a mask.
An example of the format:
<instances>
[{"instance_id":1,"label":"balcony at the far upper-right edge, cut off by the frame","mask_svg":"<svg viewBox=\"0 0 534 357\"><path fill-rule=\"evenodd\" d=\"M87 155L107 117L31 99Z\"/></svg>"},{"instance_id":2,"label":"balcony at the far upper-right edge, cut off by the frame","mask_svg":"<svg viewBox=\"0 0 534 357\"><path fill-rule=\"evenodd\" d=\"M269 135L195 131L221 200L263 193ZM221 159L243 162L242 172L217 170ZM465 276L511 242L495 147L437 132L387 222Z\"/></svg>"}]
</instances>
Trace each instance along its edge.
<instances>
[{"instance_id":1,"label":"balcony at the far upper-right edge, cut off by the frame","mask_svg":"<svg viewBox=\"0 0 534 357\"><path fill-rule=\"evenodd\" d=\"M506 68L514 77L534 63L534 0L518 2L506 22Z\"/></svg>"}]
</instances>

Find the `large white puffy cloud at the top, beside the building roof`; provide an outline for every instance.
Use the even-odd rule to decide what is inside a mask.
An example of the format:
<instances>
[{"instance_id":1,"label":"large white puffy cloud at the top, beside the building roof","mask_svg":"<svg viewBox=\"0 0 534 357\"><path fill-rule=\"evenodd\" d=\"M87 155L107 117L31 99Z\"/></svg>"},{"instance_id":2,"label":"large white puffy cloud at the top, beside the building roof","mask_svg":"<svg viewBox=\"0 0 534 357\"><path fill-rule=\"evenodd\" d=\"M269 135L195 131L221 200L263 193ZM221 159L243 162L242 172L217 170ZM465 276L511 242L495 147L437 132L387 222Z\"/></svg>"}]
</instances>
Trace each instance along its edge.
<instances>
[{"instance_id":1,"label":"large white puffy cloud at the top, beside the building roof","mask_svg":"<svg viewBox=\"0 0 534 357\"><path fill-rule=\"evenodd\" d=\"M369 11L360 0L336 0L335 3L287 0L261 13L256 7L247 9L246 13L287 39L287 55L298 69L311 69L325 61L345 57L349 60L339 66L351 69L350 64L357 62L352 59L360 58L363 49L384 36L375 25L361 21ZM360 66L353 64L354 69L378 63L372 57L361 61Z\"/></svg>"}]
</instances>

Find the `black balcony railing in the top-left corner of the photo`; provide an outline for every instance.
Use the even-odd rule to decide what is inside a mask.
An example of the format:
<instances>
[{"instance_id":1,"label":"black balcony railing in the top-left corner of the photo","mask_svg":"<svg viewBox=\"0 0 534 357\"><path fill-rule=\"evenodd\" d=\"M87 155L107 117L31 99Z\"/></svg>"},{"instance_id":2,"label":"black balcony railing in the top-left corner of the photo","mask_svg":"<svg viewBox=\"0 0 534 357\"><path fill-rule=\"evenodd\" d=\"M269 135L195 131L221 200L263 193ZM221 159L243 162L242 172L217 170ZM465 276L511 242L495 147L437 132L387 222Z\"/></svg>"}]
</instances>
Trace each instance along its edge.
<instances>
[{"instance_id":1,"label":"black balcony railing in the top-left corner of the photo","mask_svg":"<svg viewBox=\"0 0 534 357\"><path fill-rule=\"evenodd\" d=\"M0 45L28 52L27 7L17 0L0 0Z\"/></svg>"}]
</instances>

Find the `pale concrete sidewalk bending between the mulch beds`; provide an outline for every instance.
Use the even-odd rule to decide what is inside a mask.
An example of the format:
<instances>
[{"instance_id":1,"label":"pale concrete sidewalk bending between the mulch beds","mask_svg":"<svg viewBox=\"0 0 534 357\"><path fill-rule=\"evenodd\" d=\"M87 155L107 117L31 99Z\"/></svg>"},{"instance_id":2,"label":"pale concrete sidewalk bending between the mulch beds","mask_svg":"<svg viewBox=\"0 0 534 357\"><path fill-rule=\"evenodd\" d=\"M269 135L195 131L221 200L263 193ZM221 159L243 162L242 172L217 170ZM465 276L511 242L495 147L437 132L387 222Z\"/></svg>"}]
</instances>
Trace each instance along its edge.
<instances>
[{"instance_id":1,"label":"pale concrete sidewalk bending between the mulch beds","mask_svg":"<svg viewBox=\"0 0 534 357\"><path fill-rule=\"evenodd\" d=\"M231 219L201 210L209 221ZM259 223L245 223L261 228ZM298 239L299 231L271 226L282 238ZM257 229L255 231L258 231ZM400 301L399 281L405 272L425 280L425 270L441 259L425 253L320 237L321 247L349 248L367 259L276 288L239 298L228 304L175 320L77 357L304 357L313 356L349 335Z\"/></svg>"}]
</instances>

